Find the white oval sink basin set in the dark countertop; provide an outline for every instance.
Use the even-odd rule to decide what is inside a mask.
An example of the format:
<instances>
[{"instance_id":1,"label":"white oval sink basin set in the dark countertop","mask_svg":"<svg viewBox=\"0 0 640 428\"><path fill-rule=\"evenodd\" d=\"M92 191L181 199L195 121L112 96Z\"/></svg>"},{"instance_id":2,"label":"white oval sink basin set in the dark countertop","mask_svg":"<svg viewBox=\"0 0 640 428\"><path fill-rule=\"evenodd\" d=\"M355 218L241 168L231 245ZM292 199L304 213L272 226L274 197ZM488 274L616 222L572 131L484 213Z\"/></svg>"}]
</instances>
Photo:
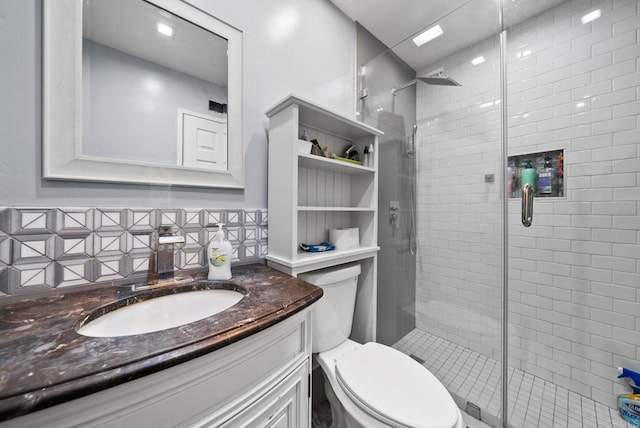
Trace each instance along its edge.
<instances>
[{"instance_id":1,"label":"white oval sink basin set in the dark countertop","mask_svg":"<svg viewBox=\"0 0 640 428\"><path fill-rule=\"evenodd\" d=\"M78 329L91 337L132 336L198 321L230 308L244 295L232 290L198 290L156 297L107 312Z\"/></svg>"}]
</instances>

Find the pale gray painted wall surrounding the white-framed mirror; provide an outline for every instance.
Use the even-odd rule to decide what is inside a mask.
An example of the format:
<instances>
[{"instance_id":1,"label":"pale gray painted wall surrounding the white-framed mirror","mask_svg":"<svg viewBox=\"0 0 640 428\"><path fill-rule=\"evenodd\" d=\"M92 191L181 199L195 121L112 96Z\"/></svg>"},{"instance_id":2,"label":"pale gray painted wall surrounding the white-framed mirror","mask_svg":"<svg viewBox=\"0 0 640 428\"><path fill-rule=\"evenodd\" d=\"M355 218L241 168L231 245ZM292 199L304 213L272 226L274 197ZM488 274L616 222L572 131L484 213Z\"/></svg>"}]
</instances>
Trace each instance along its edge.
<instances>
[{"instance_id":1,"label":"pale gray painted wall surrounding the white-framed mirror","mask_svg":"<svg viewBox=\"0 0 640 428\"><path fill-rule=\"evenodd\" d=\"M246 189L75 183L42 179L42 5L0 3L0 201L6 206L267 205L264 112L289 93L353 116L355 30L328 2L193 1L244 33ZM314 25L305 17L313 16ZM284 21L283 21L284 20ZM322 31L331 28L331 31Z\"/></svg>"}]
</instances>

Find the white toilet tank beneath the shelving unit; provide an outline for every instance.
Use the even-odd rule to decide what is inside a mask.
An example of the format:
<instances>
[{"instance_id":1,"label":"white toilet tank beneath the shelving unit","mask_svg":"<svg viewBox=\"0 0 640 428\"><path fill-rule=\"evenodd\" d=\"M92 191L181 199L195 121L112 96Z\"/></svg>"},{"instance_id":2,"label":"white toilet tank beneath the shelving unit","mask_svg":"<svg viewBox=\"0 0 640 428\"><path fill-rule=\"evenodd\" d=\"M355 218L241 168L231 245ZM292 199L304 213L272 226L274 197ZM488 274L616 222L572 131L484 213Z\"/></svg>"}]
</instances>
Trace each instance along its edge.
<instances>
[{"instance_id":1,"label":"white toilet tank beneath the shelving unit","mask_svg":"<svg viewBox=\"0 0 640 428\"><path fill-rule=\"evenodd\" d=\"M335 348L349 338L360 272L360 265L355 264L298 275L324 292L312 311L313 352Z\"/></svg>"}]
</instances>

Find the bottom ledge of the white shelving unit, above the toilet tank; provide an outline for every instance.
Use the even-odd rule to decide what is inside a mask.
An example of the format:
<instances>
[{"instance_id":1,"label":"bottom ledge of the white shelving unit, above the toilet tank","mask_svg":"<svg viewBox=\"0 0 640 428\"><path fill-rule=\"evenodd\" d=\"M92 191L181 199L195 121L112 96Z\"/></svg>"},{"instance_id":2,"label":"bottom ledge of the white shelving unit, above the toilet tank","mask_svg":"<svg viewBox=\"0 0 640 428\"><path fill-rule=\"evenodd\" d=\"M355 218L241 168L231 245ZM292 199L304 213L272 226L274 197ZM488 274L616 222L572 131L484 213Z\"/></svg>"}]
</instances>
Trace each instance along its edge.
<instances>
[{"instance_id":1,"label":"bottom ledge of the white shelving unit, above the toilet tank","mask_svg":"<svg viewBox=\"0 0 640 428\"><path fill-rule=\"evenodd\" d=\"M299 251L295 260L288 260L271 254L267 255L267 260L299 273L373 257L379 250L380 247L378 246L361 246L348 250L324 251L321 253Z\"/></svg>"}]
</instances>

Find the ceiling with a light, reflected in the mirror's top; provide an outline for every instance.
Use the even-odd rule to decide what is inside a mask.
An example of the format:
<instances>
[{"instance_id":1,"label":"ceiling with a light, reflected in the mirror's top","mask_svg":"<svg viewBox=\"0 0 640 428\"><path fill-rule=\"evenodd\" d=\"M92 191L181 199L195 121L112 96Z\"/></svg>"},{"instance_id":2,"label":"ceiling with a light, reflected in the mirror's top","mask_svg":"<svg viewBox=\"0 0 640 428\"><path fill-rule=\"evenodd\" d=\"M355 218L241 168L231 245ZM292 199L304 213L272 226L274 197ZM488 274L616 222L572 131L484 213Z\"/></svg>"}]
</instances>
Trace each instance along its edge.
<instances>
[{"instance_id":1,"label":"ceiling with a light, reflected in the mirror's top","mask_svg":"<svg viewBox=\"0 0 640 428\"><path fill-rule=\"evenodd\" d=\"M227 86L227 40L144 1L84 0L83 37L164 67ZM164 23L167 37L156 31Z\"/></svg>"}]
</instances>

